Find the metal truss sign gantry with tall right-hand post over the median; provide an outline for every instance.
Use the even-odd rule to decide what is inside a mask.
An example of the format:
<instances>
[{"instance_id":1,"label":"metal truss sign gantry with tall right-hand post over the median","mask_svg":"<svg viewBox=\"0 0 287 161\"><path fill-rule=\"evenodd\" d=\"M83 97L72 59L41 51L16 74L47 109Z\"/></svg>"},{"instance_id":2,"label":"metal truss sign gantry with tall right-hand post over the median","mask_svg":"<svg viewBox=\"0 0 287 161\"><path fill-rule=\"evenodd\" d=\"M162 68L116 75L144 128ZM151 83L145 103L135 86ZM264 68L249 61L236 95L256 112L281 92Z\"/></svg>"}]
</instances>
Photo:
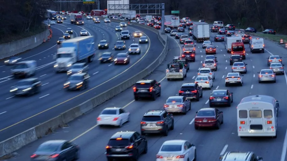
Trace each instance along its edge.
<instances>
[{"instance_id":1,"label":"metal truss sign gantry with tall right-hand post over the median","mask_svg":"<svg viewBox=\"0 0 287 161\"><path fill-rule=\"evenodd\" d=\"M129 10L129 11L139 11L138 14L142 15L155 15L154 13L141 13L143 10L159 10L161 12L162 17L162 33L165 34L164 31L164 3L157 3L157 4L108 4L108 11L111 13L115 13L115 11L121 11L121 10ZM160 14L160 12L158 14ZM157 13L156 13L157 14Z\"/></svg>"}]
</instances>

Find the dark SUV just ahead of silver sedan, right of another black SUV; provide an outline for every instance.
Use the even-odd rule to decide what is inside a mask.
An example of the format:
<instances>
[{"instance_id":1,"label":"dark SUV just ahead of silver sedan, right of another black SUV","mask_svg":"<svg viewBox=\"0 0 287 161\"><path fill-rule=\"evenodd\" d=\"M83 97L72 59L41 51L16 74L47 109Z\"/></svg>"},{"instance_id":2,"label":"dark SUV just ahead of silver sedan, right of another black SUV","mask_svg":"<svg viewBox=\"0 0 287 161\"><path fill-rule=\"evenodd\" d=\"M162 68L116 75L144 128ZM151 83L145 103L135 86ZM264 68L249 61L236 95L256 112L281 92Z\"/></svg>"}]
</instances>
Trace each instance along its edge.
<instances>
[{"instance_id":1,"label":"dark SUV just ahead of silver sedan, right of another black SUV","mask_svg":"<svg viewBox=\"0 0 287 161\"><path fill-rule=\"evenodd\" d=\"M199 101L199 98L202 98L202 87L197 83L184 83L179 90L179 96Z\"/></svg>"}]
</instances>

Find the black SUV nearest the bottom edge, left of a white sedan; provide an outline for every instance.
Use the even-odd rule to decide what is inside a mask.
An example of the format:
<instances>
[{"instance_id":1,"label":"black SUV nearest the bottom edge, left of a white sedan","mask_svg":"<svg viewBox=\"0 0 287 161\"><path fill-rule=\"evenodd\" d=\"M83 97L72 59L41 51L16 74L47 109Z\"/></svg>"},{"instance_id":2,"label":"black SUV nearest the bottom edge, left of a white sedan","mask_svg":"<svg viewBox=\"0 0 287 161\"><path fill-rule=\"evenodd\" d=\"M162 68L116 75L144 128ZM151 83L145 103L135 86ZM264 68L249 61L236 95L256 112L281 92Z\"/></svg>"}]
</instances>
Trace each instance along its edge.
<instances>
[{"instance_id":1,"label":"black SUV nearest the bottom edge, left of a white sedan","mask_svg":"<svg viewBox=\"0 0 287 161\"><path fill-rule=\"evenodd\" d=\"M106 150L108 161L114 159L138 160L140 154L148 152L148 141L138 132L117 132L110 138Z\"/></svg>"}]
</instances>

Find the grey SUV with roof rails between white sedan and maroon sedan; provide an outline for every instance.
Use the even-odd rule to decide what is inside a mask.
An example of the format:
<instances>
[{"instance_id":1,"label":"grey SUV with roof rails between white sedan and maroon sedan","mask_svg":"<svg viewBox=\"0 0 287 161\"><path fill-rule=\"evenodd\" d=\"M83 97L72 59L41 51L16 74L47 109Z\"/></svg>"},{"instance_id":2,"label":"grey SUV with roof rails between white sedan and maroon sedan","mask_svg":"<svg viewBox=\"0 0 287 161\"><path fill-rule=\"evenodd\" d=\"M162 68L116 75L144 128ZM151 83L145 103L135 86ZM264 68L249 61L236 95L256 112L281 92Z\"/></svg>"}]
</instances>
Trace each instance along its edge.
<instances>
[{"instance_id":1,"label":"grey SUV with roof rails between white sedan and maroon sedan","mask_svg":"<svg viewBox=\"0 0 287 161\"><path fill-rule=\"evenodd\" d=\"M161 133L168 136L168 130L173 129L173 116L164 110L148 110L141 120L141 135Z\"/></svg>"}]
</instances>

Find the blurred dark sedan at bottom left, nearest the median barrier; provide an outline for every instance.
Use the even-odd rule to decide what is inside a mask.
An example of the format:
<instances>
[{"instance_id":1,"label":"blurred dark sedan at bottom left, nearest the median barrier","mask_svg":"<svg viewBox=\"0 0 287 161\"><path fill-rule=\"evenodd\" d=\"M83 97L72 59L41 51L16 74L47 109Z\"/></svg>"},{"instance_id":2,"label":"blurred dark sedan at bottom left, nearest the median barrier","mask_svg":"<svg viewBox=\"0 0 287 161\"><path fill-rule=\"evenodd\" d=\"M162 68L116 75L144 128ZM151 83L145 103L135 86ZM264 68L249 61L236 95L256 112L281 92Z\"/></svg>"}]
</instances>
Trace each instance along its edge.
<instances>
[{"instance_id":1,"label":"blurred dark sedan at bottom left, nearest the median barrier","mask_svg":"<svg viewBox=\"0 0 287 161\"><path fill-rule=\"evenodd\" d=\"M49 140L42 143L30 158L32 161L62 161L79 159L79 146L68 140Z\"/></svg>"}]
</instances>

